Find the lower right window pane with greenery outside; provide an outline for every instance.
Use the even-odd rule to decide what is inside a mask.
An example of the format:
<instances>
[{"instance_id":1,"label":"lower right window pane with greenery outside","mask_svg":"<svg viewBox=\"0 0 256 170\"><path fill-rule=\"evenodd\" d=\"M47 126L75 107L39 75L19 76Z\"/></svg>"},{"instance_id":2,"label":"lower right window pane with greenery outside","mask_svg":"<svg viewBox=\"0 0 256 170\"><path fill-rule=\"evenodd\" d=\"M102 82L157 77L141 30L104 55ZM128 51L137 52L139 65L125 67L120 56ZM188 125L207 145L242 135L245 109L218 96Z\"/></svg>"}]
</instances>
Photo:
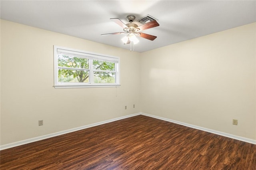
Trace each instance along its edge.
<instances>
[{"instance_id":1,"label":"lower right window pane with greenery outside","mask_svg":"<svg viewBox=\"0 0 256 170\"><path fill-rule=\"evenodd\" d=\"M94 83L116 83L116 73L94 71Z\"/></svg>"}]
</instances>

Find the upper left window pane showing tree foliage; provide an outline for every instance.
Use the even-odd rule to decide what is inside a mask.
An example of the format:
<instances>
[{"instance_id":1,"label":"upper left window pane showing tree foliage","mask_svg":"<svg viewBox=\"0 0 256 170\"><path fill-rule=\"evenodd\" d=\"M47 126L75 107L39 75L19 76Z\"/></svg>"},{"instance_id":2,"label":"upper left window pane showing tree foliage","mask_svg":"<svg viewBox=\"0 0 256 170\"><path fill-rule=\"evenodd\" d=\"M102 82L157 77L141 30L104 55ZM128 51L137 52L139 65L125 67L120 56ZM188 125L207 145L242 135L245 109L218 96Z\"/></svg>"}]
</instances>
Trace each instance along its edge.
<instances>
[{"instance_id":1,"label":"upper left window pane showing tree foliage","mask_svg":"<svg viewBox=\"0 0 256 170\"><path fill-rule=\"evenodd\" d=\"M70 55L58 55L58 66L89 69L89 59Z\"/></svg>"}]
</instances>

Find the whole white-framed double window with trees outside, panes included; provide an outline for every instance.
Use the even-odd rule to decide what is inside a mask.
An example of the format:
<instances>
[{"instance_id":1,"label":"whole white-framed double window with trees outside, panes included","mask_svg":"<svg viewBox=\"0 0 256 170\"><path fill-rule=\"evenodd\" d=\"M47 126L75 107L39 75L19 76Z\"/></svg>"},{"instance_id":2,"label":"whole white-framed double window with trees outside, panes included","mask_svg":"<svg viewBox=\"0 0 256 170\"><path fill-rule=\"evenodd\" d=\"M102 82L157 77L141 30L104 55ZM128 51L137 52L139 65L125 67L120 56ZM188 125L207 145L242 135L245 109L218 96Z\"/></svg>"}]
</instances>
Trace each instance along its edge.
<instances>
[{"instance_id":1,"label":"whole white-framed double window with trees outside, panes included","mask_svg":"<svg viewBox=\"0 0 256 170\"><path fill-rule=\"evenodd\" d=\"M54 87L120 86L119 57L54 46Z\"/></svg>"}]
</instances>

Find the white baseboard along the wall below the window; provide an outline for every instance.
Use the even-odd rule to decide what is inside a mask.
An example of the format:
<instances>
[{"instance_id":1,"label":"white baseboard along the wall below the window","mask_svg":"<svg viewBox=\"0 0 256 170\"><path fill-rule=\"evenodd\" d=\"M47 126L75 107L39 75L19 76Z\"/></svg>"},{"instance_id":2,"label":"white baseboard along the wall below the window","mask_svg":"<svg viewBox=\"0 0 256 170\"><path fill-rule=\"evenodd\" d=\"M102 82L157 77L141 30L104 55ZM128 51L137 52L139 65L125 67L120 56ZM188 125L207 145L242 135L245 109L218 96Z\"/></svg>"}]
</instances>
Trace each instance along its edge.
<instances>
[{"instance_id":1,"label":"white baseboard along the wall below the window","mask_svg":"<svg viewBox=\"0 0 256 170\"><path fill-rule=\"evenodd\" d=\"M83 130L83 129L90 128L90 127L95 127L95 126L98 126L98 125L102 125L102 124L105 124L105 123L110 123L110 122L118 121L118 120L121 120L121 119L126 119L128 117L133 117L133 116L137 116L137 115L141 115L141 113L135 113L135 114L132 114L132 115L118 117L118 118L110 119L110 120L107 120L107 121L102 121L102 122L93 123L93 124L90 124L90 125L85 125L85 126L82 126L82 127L77 127L77 128L72 128L72 129L68 129L68 130L63 130L63 131L55 132L55 133L52 133L52 134L46 134L46 135L43 135L43 136L38 136L38 137L35 137L35 138L26 139L26 140L21 140L21 141L13 142L13 143L10 143L10 144L4 144L4 145L0 146L0 150L4 150L4 149L8 149L8 148L13 148L15 146L20 146L20 145L23 145L23 144L32 143L32 142L36 142L36 141L39 141L39 140L43 140L43 139L47 139L47 138L52 138L54 136L59 136L59 135L62 135L62 134L66 134L66 133L70 133L70 132L75 132L75 131Z\"/></svg>"}]
</instances>

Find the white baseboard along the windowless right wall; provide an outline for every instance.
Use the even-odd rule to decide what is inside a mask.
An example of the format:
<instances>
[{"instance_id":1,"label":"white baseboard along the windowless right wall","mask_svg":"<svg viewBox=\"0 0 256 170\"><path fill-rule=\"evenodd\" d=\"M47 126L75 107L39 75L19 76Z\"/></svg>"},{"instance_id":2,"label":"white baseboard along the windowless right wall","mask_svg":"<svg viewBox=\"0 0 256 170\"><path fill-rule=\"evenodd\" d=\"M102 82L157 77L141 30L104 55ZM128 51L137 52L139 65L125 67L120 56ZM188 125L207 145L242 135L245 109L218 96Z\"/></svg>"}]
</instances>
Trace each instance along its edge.
<instances>
[{"instance_id":1,"label":"white baseboard along the windowless right wall","mask_svg":"<svg viewBox=\"0 0 256 170\"><path fill-rule=\"evenodd\" d=\"M212 129L208 129L208 128L204 128L204 127L198 127L196 125L190 125L188 123L174 121L172 119L167 119L167 118L164 118L164 117L159 117L159 116L155 116L155 115L149 115L147 113L141 113L141 115L148 116L148 117L153 117L153 118L160 119L160 120L163 120L163 121L168 121L168 122L176 123L178 125L183 125L185 127L190 127L190 128L195 128L195 129L198 129L198 130L203 130L203 131L206 131L206 132L218 134L220 136L225 136L225 137L228 137L228 138L232 138L232 139L236 139L236 140L241 140L243 142L248 142L248 143L251 143L251 144L256 144L256 140L253 140L253 139L250 139L250 138L244 138L242 136L236 136L234 134L228 134L228 133L220 132L220 131L217 131L217 130L212 130Z\"/></svg>"}]
</instances>

